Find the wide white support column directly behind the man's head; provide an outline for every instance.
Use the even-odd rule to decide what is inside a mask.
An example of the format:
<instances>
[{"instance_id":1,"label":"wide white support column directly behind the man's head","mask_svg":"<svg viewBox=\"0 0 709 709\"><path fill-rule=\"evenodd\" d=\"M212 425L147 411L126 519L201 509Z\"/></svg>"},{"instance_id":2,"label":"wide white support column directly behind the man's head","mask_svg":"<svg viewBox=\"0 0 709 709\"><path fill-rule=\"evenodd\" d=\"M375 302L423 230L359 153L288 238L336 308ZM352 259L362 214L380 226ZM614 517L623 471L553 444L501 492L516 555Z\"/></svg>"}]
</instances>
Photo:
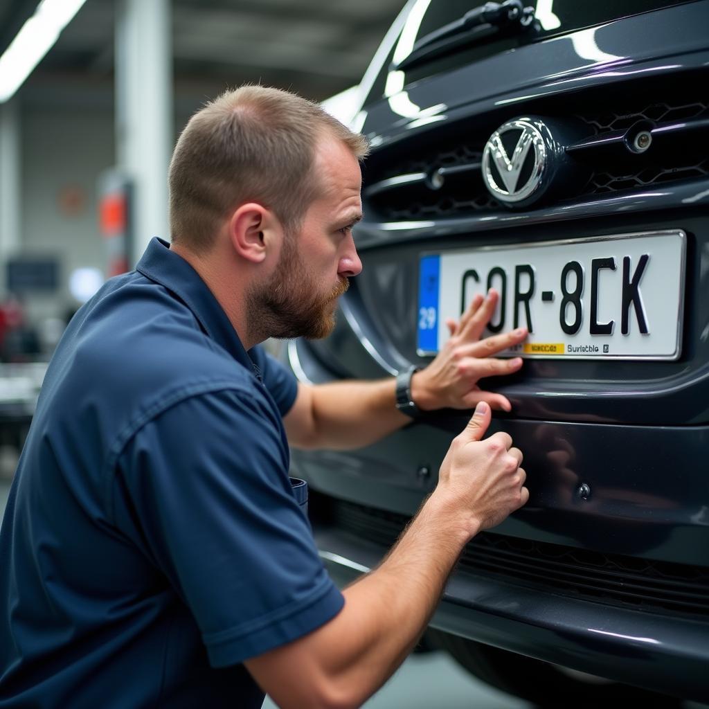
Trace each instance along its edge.
<instances>
[{"instance_id":1,"label":"wide white support column directly behind the man's head","mask_svg":"<svg viewBox=\"0 0 709 709\"><path fill-rule=\"evenodd\" d=\"M170 0L121 0L116 21L116 149L133 183L131 266L154 236L169 239L173 143Z\"/></svg>"}]
</instances>

